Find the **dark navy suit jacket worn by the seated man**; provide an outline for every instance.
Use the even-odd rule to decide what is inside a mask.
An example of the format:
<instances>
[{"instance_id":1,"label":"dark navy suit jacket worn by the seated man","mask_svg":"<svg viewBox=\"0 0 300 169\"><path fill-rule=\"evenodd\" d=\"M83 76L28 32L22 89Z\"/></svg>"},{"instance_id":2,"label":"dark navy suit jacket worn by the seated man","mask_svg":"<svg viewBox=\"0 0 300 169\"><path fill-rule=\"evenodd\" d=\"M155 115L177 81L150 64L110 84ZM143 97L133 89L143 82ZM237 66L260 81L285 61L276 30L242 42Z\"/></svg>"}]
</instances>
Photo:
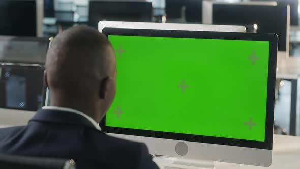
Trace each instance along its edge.
<instances>
[{"instance_id":1,"label":"dark navy suit jacket worn by the seated man","mask_svg":"<svg viewBox=\"0 0 300 169\"><path fill-rule=\"evenodd\" d=\"M74 159L79 169L158 169L145 144L108 136L81 115L57 110L0 129L0 154Z\"/></svg>"}]
</instances>

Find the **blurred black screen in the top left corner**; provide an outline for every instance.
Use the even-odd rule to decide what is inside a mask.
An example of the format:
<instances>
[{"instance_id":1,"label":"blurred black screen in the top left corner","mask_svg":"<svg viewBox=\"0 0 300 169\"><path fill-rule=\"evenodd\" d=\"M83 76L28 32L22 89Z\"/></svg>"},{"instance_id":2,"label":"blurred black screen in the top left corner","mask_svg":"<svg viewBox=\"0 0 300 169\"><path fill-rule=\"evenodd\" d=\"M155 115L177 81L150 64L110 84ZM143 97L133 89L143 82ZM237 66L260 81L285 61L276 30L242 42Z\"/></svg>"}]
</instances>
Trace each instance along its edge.
<instances>
[{"instance_id":1,"label":"blurred black screen in the top left corner","mask_svg":"<svg viewBox=\"0 0 300 169\"><path fill-rule=\"evenodd\" d=\"M0 1L0 35L36 36L36 20L36 1Z\"/></svg>"}]
</instances>

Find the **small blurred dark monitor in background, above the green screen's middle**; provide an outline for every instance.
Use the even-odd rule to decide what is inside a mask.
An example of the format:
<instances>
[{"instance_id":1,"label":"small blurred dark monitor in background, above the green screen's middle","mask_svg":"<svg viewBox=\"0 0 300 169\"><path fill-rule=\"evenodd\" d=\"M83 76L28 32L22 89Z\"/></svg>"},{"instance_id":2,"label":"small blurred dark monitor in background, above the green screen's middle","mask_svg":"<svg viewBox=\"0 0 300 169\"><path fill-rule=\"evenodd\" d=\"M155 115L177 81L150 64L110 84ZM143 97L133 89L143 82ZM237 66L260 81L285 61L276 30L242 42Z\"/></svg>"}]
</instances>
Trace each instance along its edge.
<instances>
[{"instance_id":1,"label":"small blurred dark monitor in background, above the green screen's middle","mask_svg":"<svg viewBox=\"0 0 300 169\"><path fill-rule=\"evenodd\" d=\"M202 0L166 0L166 22L202 22Z\"/></svg>"}]
</instances>

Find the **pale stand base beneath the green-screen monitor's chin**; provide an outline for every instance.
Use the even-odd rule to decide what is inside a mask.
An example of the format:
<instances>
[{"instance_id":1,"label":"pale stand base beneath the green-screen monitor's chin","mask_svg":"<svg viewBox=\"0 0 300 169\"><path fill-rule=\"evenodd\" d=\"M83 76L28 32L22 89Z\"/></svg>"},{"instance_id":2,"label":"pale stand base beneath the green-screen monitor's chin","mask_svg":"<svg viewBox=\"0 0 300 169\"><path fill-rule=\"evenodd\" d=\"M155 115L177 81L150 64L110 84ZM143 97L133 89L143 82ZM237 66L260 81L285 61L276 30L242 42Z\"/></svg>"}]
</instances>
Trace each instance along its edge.
<instances>
[{"instance_id":1,"label":"pale stand base beneath the green-screen monitor's chin","mask_svg":"<svg viewBox=\"0 0 300 169\"><path fill-rule=\"evenodd\" d=\"M214 169L215 161L196 160L178 157L155 157L154 161L163 169Z\"/></svg>"}]
</instances>

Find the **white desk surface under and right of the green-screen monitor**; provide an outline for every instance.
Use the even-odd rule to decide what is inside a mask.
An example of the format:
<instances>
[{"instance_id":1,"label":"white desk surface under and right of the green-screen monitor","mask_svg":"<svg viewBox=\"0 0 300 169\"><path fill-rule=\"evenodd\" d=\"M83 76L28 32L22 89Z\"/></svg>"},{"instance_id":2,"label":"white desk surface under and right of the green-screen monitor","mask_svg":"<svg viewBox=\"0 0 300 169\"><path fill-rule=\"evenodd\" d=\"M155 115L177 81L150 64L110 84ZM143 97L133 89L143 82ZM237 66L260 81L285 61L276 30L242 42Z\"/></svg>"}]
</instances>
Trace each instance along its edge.
<instances>
[{"instance_id":1,"label":"white desk surface under and right of the green-screen monitor","mask_svg":"<svg viewBox=\"0 0 300 169\"><path fill-rule=\"evenodd\" d=\"M228 154L230 155L230 154ZM160 164L161 157L155 161ZM195 167L194 167L195 168ZM225 162L215 162L215 169L299 169L300 168L300 137L274 135L273 157L270 167L241 165Z\"/></svg>"}]
</instances>

